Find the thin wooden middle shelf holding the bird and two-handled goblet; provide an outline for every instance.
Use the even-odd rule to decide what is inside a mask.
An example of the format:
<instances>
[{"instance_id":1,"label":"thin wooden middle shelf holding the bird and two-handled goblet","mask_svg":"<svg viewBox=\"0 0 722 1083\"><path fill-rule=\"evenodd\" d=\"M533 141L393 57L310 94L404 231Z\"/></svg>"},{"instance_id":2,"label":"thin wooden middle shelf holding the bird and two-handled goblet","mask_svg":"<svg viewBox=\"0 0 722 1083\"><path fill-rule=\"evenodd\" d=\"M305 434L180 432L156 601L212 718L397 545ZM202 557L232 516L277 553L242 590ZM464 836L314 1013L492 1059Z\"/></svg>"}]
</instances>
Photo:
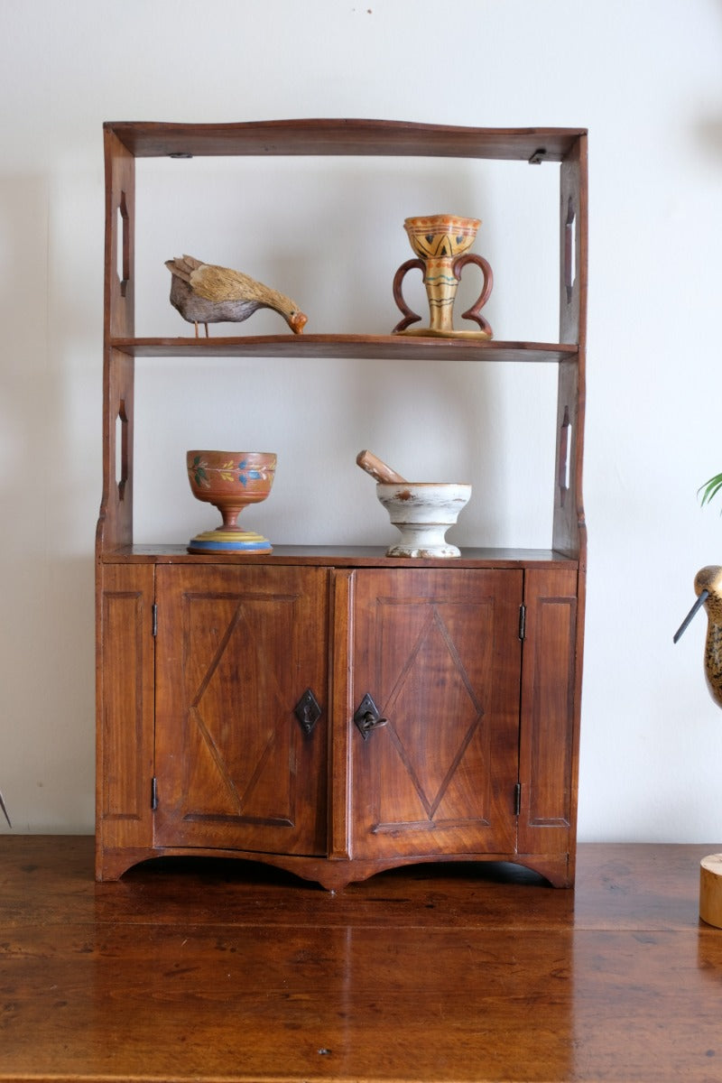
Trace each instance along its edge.
<instances>
[{"instance_id":1,"label":"thin wooden middle shelf holding the bird and two-handled goblet","mask_svg":"<svg viewBox=\"0 0 722 1083\"><path fill-rule=\"evenodd\" d=\"M110 349L135 357L388 357L402 361L561 362L576 343L508 342L405 335L262 335L215 338L114 338Z\"/></svg>"}]
</instances>

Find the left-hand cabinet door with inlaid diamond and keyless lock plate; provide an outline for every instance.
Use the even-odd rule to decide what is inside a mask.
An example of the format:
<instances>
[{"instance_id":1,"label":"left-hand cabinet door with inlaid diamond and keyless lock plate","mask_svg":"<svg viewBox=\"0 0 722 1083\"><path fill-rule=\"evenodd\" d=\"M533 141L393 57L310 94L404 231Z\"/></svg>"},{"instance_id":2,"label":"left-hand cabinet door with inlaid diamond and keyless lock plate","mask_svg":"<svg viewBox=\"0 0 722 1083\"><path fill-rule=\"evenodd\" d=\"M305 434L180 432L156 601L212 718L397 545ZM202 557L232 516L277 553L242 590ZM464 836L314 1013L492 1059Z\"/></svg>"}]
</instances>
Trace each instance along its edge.
<instances>
[{"instance_id":1,"label":"left-hand cabinet door with inlaid diamond and keyless lock plate","mask_svg":"<svg viewBox=\"0 0 722 1083\"><path fill-rule=\"evenodd\" d=\"M326 572L161 566L157 604L156 845L325 853Z\"/></svg>"}]
</instances>

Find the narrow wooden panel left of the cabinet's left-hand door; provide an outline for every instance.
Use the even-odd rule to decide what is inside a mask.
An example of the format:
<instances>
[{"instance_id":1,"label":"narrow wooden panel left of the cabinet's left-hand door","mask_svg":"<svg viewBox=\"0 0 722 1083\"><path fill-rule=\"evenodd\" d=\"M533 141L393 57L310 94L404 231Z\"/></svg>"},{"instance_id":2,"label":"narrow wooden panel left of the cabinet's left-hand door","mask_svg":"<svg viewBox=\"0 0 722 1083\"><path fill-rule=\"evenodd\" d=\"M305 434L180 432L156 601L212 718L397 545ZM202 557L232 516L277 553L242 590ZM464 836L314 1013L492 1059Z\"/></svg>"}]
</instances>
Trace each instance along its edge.
<instances>
[{"instance_id":1,"label":"narrow wooden panel left of the cabinet's left-hand door","mask_svg":"<svg viewBox=\"0 0 722 1083\"><path fill-rule=\"evenodd\" d=\"M108 849L152 840L153 567L100 573L97 665L97 875Z\"/></svg>"}]
</instances>

